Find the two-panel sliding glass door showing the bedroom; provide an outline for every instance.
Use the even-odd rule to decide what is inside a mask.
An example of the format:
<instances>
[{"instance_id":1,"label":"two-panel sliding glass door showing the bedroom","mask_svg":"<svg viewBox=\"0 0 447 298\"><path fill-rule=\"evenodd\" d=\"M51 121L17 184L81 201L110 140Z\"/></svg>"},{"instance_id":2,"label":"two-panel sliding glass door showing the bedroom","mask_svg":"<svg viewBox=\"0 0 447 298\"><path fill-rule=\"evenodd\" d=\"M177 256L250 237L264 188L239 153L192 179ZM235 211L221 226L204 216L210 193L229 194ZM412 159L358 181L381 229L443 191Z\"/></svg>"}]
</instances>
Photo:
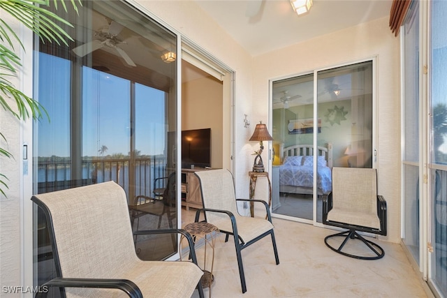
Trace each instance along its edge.
<instances>
[{"instance_id":1,"label":"two-panel sliding glass door showing the bedroom","mask_svg":"<svg viewBox=\"0 0 447 298\"><path fill-rule=\"evenodd\" d=\"M272 82L277 216L321 223L332 167L373 166L372 66L361 61Z\"/></svg>"}]
</instances>

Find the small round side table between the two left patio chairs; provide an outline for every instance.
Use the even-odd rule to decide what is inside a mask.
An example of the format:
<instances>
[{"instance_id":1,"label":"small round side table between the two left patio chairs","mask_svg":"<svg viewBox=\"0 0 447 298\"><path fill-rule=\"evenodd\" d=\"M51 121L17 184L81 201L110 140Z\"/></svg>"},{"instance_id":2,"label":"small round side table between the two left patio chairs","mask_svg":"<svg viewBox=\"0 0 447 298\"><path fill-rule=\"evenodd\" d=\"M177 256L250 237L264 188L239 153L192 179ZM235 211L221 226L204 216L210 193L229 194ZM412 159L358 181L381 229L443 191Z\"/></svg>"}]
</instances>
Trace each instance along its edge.
<instances>
[{"instance_id":1,"label":"small round side table between the two left patio chairs","mask_svg":"<svg viewBox=\"0 0 447 298\"><path fill-rule=\"evenodd\" d=\"M214 267L214 246L216 244L216 237L214 237L213 232L219 232L219 229L212 225L211 223L205 223L205 221L200 221L198 223L188 223L185 225L184 230L191 234L194 243L197 243L198 239L205 239L205 258L203 258L203 276L200 278L200 283L202 283L203 288L210 288L211 297L211 284L214 281L214 276L212 275L212 270ZM180 243L182 240L180 240ZM207 244L212 248L212 259L211 259L211 269L206 270L207 264Z\"/></svg>"}]
</instances>

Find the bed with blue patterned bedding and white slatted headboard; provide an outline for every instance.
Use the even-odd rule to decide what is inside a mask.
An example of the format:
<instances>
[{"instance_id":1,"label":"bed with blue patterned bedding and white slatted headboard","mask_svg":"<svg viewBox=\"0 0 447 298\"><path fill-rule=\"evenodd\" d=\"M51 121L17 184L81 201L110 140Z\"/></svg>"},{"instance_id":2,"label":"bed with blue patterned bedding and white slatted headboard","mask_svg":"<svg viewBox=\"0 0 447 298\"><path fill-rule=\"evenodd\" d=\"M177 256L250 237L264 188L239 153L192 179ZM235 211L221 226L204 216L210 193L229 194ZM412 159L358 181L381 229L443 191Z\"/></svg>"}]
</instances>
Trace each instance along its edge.
<instances>
[{"instance_id":1,"label":"bed with blue patterned bedding and white slatted headboard","mask_svg":"<svg viewBox=\"0 0 447 298\"><path fill-rule=\"evenodd\" d=\"M279 192L312 194L314 185L314 146L295 145L283 150L283 163L279 166ZM332 143L315 151L318 163L317 193L332 189Z\"/></svg>"}]
</instances>

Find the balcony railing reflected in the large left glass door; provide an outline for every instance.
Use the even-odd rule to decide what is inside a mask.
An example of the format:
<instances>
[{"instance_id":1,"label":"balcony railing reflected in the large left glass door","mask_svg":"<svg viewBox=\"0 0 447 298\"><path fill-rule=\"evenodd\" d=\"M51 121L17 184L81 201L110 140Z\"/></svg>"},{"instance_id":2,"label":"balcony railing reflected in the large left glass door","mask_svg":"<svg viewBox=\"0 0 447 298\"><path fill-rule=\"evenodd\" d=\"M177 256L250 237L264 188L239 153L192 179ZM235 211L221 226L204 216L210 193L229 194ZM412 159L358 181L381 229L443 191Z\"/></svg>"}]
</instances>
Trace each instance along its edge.
<instances>
[{"instance_id":1,"label":"balcony railing reflected in the large left glass door","mask_svg":"<svg viewBox=\"0 0 447 298\"><path fill-rule=\"evenodd\" d=\"M115 181L126 191L128 198L136 195L153 196L154 180L167 177L166 158L96 158L82 161L80 177L72 177L71 161L54 158L38 159L38 193ZM160 179L165 181L166 179Z\"/></svg>"}]
</instances>

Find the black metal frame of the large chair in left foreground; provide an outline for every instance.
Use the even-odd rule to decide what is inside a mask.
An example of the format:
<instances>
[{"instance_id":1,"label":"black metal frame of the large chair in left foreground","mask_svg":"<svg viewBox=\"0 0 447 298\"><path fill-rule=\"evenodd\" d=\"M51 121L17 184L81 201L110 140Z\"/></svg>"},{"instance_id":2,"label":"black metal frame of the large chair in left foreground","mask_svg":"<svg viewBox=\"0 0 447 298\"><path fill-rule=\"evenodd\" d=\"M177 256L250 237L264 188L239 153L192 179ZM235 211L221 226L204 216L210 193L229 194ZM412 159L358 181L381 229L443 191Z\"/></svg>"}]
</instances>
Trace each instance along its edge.
<instances>
[{"instance_id":1,"label":"black metal frame of the large chair in left foreground","mask_svg":"<svg viewBox=\"0 0 447 298\"><path fill-rule=\"evenodd\" d=\"M50 241L52 246L52 253L54 258L54 265L56 267L56 274L58 277L53 278L50 281L47 281L43 284L45 287L57 287L59 288L59 292L61 297L65 298L65 288L108 288L108 289L119 289L125 292L131 298L143 298L142 292L138 288L135 283L126 279L116 279L116 278L64 278L62 277L61 265L59 262L59 253L57 251L56 237L54 234L54 227L52 216L50 210L47 206L38 198L32 197L31 200L36 203L47 218L47 227L48 232L50 234ZM190 258L194 264L197 265L196 251L194 248L194 242L191 237L191 234L182 229L171 229L171 230L141 230L133 232L133 234L141 235L141 234L183 234L184 237L188 240L189 244L189 252ZM201 283L199 282L197 285L198 294L200 298L203 298L203 288ZM48 291L49 292L49 291ZM36 298L39 297L47 297L48 292L41 291L36 295Z\"/></svg>"}]
</instances>

